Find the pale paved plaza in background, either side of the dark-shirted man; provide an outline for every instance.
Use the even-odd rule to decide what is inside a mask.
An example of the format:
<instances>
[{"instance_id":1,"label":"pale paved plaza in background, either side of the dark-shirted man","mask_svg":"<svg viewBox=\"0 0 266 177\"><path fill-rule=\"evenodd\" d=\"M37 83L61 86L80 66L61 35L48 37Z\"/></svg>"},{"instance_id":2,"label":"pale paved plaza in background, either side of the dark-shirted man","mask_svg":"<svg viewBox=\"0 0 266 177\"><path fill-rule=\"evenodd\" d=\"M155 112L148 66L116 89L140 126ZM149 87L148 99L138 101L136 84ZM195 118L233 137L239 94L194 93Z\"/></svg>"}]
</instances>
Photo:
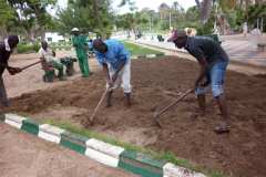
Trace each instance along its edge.
<instances>
[{"instance_id":1,"label":"pale paved plaza in background, either side of the dark-shirted man","mask_svg":"<svg viewBox=\"0 0 266 177\"><path fill-rule=\"evenodd\" d=\"M266 39L266 37L263 38ZM244 38L242 35L225 35L222 37L222 46L228 53L232 61L258 66L266 66L266 52L257 52L256 45L253 41L250 41L250 38ZM175 48L174 43L166 41L158 42L157 40L141 39L135 42L175 52L187 53L184 49L177 49Z\"/></svg>"}]
</instances>

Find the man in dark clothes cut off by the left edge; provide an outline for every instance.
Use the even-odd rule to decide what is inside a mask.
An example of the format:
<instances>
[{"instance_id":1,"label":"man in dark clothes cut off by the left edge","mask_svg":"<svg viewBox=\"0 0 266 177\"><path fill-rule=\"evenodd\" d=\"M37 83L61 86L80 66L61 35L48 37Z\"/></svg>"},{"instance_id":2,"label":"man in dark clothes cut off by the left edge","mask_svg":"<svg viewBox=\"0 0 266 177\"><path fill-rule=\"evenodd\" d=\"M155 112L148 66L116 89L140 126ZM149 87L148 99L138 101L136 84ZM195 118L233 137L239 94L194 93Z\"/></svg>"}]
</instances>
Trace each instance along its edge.
<instances>
[{"instance_id":1,"label":"man in dark clothes cut off by the left edge","mask_svg":"<svg viewBox=\"0 0 266 177\"><path fill-rule=\"evenodd\" d=\"M11 75L21 72L19 67L11 67L8 64L8 60L13 49L19 43L18 35L9 35L4 41L0 42L0 107L9 106L9 101L6 92L6 87L2 80L2 74L7 69Z\"/></svg>"}]
</instances>

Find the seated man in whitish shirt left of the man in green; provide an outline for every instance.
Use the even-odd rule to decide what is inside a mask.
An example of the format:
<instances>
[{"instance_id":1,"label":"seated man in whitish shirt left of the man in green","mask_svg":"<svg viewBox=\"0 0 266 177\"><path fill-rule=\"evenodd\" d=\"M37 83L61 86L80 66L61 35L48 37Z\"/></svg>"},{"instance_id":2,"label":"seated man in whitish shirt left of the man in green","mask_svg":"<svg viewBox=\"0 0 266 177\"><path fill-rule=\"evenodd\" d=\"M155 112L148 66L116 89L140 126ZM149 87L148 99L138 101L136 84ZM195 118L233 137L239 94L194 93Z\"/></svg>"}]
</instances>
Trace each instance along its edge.
<instances>
[{"instance_id":1,"label":"seated man in whitish shirt left of the man in green","mask_svg":"<svg viewBox=\"0 0 266 177\"><path fill-rule=\"evenodd\" d=\"M47 41L41 42L41 48L40 48L38 53L39 53L40 59L42 61L43 70L45 71L44 77L45 76L49 77L49 75L47 75L47 72L49 70L48 67L51 65L52 70L53 69L58 70L59 80L64 81L65 76L64 76L64 72L63 72L63 64L55 58L55 53L52 51L52 49L50 49L48 46ZM50 82L53 81L53 73L52 73L51 77L52 79L48 79ZM44 79L44 81L47 81L45 79Z\"/></svg>"}]
</instances>

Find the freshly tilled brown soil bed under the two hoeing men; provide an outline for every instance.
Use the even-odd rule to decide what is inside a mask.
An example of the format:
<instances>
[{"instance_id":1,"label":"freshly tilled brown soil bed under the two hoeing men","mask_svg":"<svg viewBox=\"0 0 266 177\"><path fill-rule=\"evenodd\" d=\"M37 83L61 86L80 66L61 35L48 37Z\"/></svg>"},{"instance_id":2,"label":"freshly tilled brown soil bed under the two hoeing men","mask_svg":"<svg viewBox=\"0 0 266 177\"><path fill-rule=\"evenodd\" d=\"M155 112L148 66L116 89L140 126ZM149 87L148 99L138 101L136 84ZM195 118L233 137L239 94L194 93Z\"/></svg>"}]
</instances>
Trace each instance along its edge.
<instances>
[{"instance_id":1,"label":"freshly tilled brown soil bed under the two hoeing men","mask_svg":"<svg viewBox=\"0 0 266 177\"><path fill-rule=\"evenodd\" d=\"M208 113L193 118L196 108L190 95L161 117L164 126L155 126L153 113L174 101L180 92L193 86L197 65L176 58L137 60L132 64L134 105L126 108L122 92L115 92L113 107L102 108L93 126L86 126L104 91L104 76L96 72L90 79L80 79L64 86L23 94L12 100L16 111L42 118L51 110L72 116L54 117L74 119L78 125L116 136L123 140L144 145L156 150L171 150L208 168L224 170L239 177L266 175L266 82L265 79L227 73L226 93L231 113L232 132L216 135L214 126L219 121L217 107L208 96ZM60 111L61 110L61 111Z\"/></svg>"}]
</instances>

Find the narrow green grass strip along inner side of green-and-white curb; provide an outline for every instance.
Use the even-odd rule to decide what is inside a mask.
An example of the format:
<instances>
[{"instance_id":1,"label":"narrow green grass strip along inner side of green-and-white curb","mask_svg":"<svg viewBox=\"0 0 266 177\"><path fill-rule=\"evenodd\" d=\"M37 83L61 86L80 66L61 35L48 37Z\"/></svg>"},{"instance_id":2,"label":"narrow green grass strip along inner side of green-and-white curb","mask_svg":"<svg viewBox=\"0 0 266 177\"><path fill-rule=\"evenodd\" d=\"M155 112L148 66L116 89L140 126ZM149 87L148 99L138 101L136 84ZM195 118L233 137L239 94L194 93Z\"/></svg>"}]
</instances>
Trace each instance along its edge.
<instances>
[{"instance_id":1,"label":"narrow green grass strip along inner side of green-and-white curb","mask_svg":"<svg viewBox=\"0 0 266 177\"><path fill-rule=\"evenodd\" d=\"M113 137L96 133L96 132L92 132L85 128L81 128L76 125L73 125L72 123L65 122L65 121L54 121L51 118L48 119L43 119L43 123L45 124L51 124L58 127L61 127L63 129L66 129L71 133L74 134L79 134L89 138L96 138L100 140L103 140L105 143L115 145L115 146L121 146L127 150L134 150L134 152L139 152L139 153L143 153L143 154L147 154L151 157L155 158L155 159L162 159L162 160L166 160L166 162L171 162L177 166L182 166L198 173L203 173L208 177L226 177L223 173L217 171L217 170L213 170L213 169L206 169L206 167L202 167L200 165L195 165L191 162L188 162L187 159L183 159L183 158L178 158L176 157L173 153L171 152L154 152L141 146L136 146L136 145L132 145L130 143L124 143L121 140L117 140Z\"/></svg>"}]
</instances>

